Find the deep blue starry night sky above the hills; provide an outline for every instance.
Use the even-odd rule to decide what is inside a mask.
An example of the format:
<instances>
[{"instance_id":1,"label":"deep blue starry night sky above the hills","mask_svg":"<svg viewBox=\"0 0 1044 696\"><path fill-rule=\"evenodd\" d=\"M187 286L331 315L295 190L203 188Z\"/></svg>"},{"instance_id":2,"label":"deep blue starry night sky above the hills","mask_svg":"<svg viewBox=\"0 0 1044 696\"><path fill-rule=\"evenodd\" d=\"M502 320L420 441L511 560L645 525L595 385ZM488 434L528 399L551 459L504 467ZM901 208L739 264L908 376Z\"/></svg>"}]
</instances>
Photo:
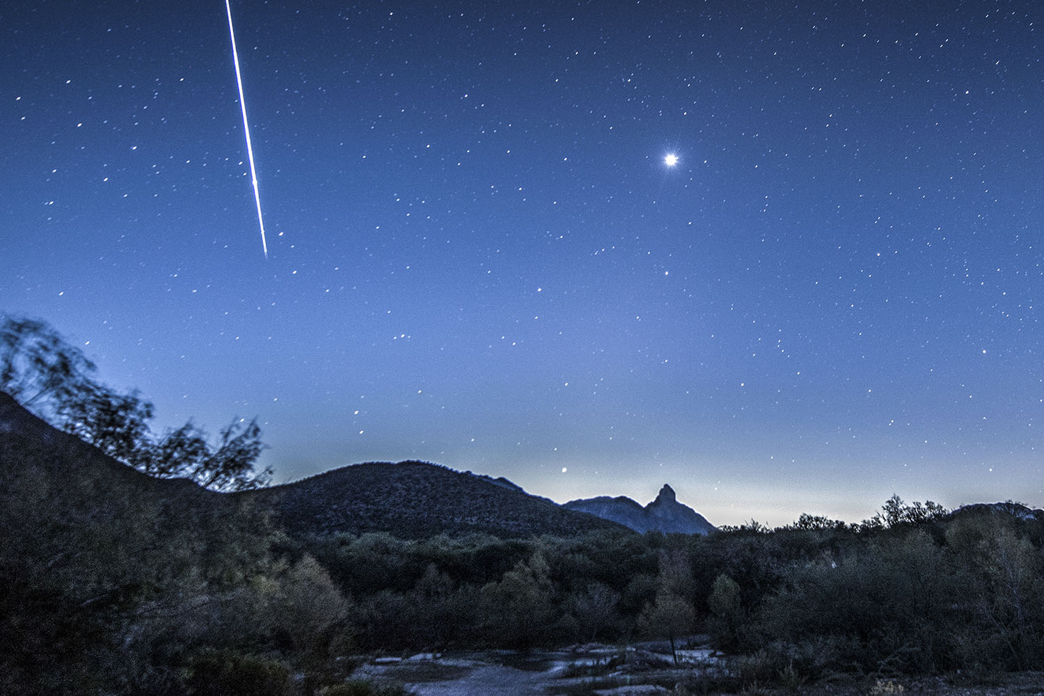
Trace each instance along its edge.
<instances>
[{"instance_id":1,"label":"deep blue starry night sky above the hills","mask_svg":"<svg viewBox=\"0 0 1044 696\"><path fill-rule=\"evenodd\" d=\"M267 260L223 2L0 8L0 311L158 431L715 524L1044 504L1041 3L232 11Z\"/></svg>"}]
</instances>

